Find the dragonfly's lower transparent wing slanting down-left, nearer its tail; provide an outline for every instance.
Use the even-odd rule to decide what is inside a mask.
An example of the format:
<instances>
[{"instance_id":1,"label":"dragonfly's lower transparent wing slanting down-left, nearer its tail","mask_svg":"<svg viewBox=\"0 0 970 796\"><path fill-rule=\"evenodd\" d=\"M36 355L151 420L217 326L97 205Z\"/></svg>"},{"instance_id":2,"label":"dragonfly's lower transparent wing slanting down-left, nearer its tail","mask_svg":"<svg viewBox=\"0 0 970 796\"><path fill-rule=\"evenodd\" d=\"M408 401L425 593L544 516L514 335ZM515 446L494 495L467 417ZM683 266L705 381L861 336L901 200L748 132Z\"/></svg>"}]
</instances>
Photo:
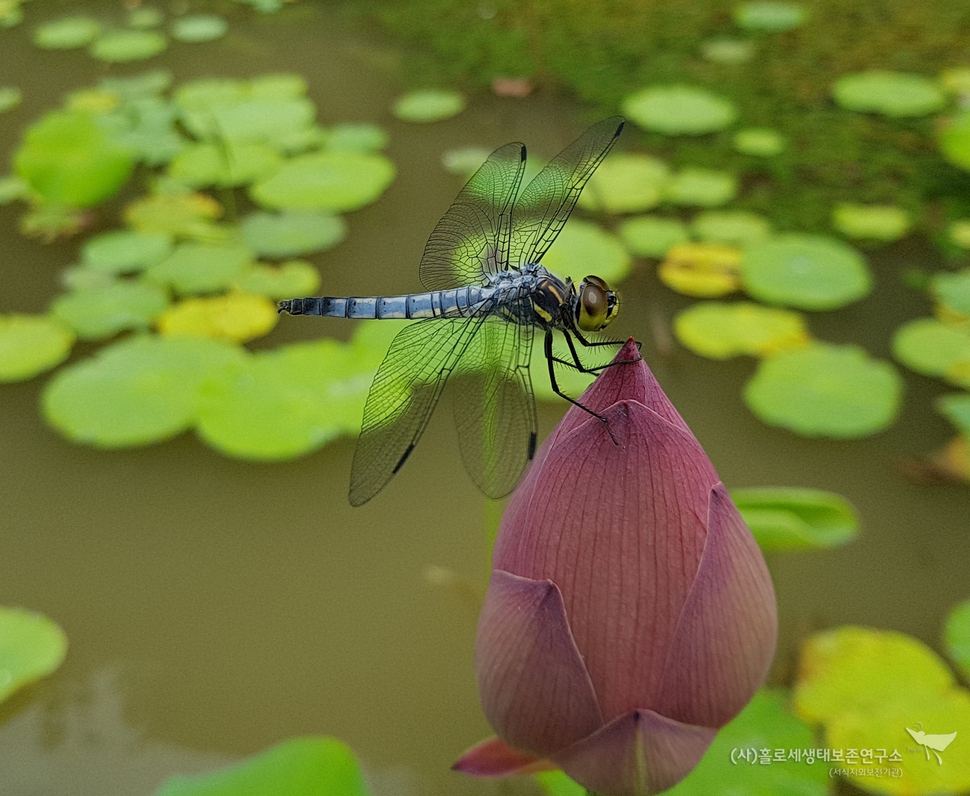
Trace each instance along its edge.
<instances>
[{"instance_id":1,"label":"dragonfly's lower transparent wing slanting down-left, nearer its tail","mask_svg":"<svg viewBox=\"0 0 970 796\"><path fill-rule=\"evenodd\" d=\"M352 505L374 497L404 465L483 317L429 318L391 341L364 405L350 474Z\"/></svg>"}]
</instances>

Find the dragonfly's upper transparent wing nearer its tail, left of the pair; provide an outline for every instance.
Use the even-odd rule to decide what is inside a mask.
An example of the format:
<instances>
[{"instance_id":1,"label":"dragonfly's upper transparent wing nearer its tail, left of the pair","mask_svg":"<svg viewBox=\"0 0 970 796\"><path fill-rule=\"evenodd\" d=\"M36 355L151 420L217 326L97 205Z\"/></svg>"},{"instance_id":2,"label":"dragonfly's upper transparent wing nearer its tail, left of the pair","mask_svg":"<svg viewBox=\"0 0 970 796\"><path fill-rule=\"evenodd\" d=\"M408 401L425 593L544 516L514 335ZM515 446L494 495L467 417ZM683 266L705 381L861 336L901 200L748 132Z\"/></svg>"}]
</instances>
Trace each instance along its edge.
<instances>
[{"instance_id":1,"label":"dragonfly's upper transparent wing nearer its tail, left of the pair","mask_svg":"<svg viewBox=\"0 0 970 796\"><path fill-rule=\"evenodd\" d=\"M428 290L484 285L508 267L512 204L525 169L525 146L496 149L435 226L421 257Z\"/></svg>"}]
</instances>

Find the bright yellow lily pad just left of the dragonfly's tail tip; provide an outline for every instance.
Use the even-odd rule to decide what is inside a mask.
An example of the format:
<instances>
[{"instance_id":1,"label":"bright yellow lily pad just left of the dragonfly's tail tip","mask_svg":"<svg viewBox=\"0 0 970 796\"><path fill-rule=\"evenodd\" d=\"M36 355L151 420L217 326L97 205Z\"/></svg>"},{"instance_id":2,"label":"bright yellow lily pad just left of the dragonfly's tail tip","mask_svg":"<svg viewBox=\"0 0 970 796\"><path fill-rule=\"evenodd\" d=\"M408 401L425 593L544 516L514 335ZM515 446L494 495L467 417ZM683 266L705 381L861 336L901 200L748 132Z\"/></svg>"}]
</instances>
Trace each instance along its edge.
<instances>
[{"instance_id":1,"label":"bright yellow lily pad just left of the dragonfly's tail tip","mask_svg":"<svg viewBox=\"0 0 970 796\"><path fill-rule=\"evenodd\" d=\"M180 301L159 317L158 331L244 343L268 334L278 318L275 302L248 293L229 293Z\"/></svg>"}]
</instances>

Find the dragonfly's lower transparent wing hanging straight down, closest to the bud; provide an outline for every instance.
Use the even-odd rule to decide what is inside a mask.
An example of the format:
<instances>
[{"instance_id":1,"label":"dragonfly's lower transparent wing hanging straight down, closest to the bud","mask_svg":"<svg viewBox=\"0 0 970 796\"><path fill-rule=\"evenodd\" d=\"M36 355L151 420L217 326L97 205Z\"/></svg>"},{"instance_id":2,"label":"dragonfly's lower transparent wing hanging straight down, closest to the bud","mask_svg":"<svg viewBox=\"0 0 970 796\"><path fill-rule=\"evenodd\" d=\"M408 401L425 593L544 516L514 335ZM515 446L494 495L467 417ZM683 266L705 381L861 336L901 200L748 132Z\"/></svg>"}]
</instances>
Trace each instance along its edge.
<instances>
[{"instance_id":1,"label":"dragonfly's lower transparent wing hanging straight down, closest to the bud","mask_svg":"<svg viewBox=\"0 0 970 796\"><path fill-rule=\"evenodd\" d=\"M448 388L465 468L489 497L511 492L535 452L532 339L530 327L486 320Z\"/></svg>"}]
</instances>

